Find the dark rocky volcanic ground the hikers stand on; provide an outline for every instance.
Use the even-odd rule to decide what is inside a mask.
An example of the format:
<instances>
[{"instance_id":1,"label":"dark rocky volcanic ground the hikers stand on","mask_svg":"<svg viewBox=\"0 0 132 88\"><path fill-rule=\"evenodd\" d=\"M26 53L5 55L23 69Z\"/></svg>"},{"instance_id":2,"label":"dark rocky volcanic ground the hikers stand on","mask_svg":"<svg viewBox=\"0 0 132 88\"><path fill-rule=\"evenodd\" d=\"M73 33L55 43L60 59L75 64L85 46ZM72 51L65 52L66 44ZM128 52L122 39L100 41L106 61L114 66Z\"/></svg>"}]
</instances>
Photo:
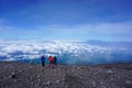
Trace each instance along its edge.
<instances>
[{"instance_id":1,"label":"dark rocky volcanic ground the hikers stand on","mask_svg":"<svg viewBox=\"0 0 132 88\"><path fill-rule=\"evenodd\" d=\"M0 88L132 88L132 64L50 68L0 62Z\"/></svg>"}]
</instances>

